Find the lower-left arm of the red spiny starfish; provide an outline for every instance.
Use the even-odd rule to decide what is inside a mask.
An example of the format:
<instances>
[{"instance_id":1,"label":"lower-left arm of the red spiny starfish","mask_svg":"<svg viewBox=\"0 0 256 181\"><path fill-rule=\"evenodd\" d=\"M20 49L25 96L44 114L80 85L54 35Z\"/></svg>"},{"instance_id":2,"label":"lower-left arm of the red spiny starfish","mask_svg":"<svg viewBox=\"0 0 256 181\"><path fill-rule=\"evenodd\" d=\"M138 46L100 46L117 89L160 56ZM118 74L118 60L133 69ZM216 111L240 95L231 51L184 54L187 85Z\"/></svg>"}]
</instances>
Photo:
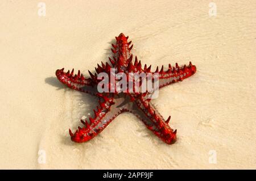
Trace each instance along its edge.
<instances>
[{"instance_id":1,"label":"lower-left arm of the red spiny starfish","mask_svg":"<svg viewBox=\"0 0 256 181\"><path fill-rule=\"evenodd\" d=\"M69 129L71 140L75 142L86 142L97 136L102 132L111 121L120 113L120 110L114 109L114 99L102 96L100 106L94 111L94 117L89 117L89 121L81 120L84 124L83 128L78 128L75 133ZM111 109L111 111L110 111Z\"/></svg>"}]
</instances>

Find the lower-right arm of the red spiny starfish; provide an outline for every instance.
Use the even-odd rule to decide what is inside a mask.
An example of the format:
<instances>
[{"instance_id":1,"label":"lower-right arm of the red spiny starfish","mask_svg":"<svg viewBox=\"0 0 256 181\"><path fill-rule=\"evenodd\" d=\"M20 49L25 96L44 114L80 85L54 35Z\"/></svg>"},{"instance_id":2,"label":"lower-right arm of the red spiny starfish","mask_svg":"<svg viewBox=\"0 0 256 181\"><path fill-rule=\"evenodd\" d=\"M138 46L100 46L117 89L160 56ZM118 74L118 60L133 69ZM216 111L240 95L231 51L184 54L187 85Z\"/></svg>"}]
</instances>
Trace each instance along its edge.
<instances>
[{"instance_id":1,"label":"lower-right arm of the red spiny starfish","mask_svg":"<svg viewBox=\"0 0 256 181\"><path fill-rule=\"evenodd\" d=\"M129 111L139 117L150 131L167 144L174 144L176 141L176 130L174 131L168 125L171 116L164 120L163 116L160 115L150 101L142 96L135 100L134 107Z\"/></svg>"}]
</instances>

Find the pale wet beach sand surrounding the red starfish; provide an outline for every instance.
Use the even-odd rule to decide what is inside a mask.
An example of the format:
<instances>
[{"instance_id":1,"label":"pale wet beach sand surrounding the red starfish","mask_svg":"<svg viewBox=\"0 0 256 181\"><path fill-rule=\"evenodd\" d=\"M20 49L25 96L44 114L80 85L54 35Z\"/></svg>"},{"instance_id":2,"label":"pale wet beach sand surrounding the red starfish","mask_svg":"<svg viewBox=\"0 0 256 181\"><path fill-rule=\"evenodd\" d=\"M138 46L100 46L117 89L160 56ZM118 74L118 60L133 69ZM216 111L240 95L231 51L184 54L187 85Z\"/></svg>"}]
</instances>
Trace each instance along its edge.
<instances>
[{"instance_id":1,"label":"pale wet beach sand surrounding the red starfish","mask_svg":"<svg viewBox=\"0 0 256 181\"><path fill-rule=\"evenodd\" d=\"M256 169L256 1L1 1L0 169ZM108 61L125 33L143 64L197 72L154 106L177 129L167 145L131 113L72 142L97 98L56 69Z\"/></svg>"}]
</instances>

